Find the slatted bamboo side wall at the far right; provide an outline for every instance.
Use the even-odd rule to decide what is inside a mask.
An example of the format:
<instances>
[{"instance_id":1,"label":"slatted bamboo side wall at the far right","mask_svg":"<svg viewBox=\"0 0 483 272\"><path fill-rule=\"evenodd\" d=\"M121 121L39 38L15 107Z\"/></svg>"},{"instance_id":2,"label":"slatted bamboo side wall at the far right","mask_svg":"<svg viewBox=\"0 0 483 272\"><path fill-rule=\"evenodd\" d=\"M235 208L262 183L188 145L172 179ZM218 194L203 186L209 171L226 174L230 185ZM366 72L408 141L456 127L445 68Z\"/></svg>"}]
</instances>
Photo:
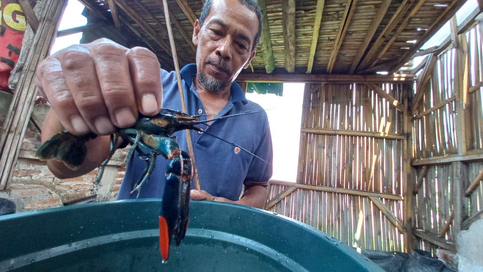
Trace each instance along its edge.
<instances>
[{"instance_id":1,"label":"slatted bamboo side wall at the far right","mask_svg":"<svg viewBox=\"0 0 483 272\"><path fill-rule=\"evenodd\" d=\"M424 234L414 241L424 250L454 250L457 232L482 216L477 178L483 171L482 47L478 22L429 56L418 76L412 166L421 187L414 197L413 227ZM466 197L471 183L476 189Z\"/></svg>"}]
</instances>

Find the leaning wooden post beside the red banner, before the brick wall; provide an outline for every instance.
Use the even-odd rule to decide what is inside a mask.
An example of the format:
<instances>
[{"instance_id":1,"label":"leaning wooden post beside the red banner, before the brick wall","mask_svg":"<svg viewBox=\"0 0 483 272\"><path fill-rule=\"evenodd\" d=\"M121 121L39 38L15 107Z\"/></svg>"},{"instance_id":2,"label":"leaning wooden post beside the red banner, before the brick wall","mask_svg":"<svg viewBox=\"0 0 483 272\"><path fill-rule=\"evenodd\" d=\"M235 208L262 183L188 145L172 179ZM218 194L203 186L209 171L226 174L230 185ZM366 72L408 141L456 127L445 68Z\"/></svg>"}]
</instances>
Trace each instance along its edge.
<instances>
[{"instance_id":1,"label":"leaning wooden post beside the red banner, before the brick wall","mask_svg":"<svg viewBox=\"0 0 483 272\"><path fill-rule=\"evenodd\" d=\"M58 24L66 4L67 0L46 0L45 3L42 3L40 5L43 7L41 15L39 15L40 23L32 45L22 48L22 50L30 49L30 51L1 131L0 190L8 188L17 154L35 104L38 92L33 80L35 68L37 63L49 54L50 47L57 36Z\"/></svg>"}]
</instances>

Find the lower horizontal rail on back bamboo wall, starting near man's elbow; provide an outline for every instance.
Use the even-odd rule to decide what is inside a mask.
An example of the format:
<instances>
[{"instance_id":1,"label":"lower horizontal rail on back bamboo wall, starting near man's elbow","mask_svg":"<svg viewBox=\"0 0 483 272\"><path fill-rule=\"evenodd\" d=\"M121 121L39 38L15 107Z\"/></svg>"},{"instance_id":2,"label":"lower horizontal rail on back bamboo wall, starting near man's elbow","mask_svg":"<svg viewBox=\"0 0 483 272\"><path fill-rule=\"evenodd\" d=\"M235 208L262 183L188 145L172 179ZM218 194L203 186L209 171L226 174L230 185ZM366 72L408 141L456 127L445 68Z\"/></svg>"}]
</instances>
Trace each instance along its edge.
<instances>
[{"instance_id":1,"label":"lower horizontal rail on back bamboo wall, starting near man's elbow","mask_svg":"<svg viewBox=\"0 0 483 272\"><path fill-rule=\"evenodd\" d=\"M287 182L287 181L270 180L269 182L270 182L270 184L297 187L297 188L314 190L314 191L319 191L319 192L329 192L329 193L346 194L346 195L353 195L353 196L374 196L374 197L380 197L380 198L386 198L386 199L392 199L392 200L402 200L403 199L403 197L399 196L399 195L370 192L370 191L362 191L362 190L355 190L355 189L336 188L336 187L311 185L311 184L303 184L303 183L294 183L294 182Z\"/></svg>"}]
</instances>

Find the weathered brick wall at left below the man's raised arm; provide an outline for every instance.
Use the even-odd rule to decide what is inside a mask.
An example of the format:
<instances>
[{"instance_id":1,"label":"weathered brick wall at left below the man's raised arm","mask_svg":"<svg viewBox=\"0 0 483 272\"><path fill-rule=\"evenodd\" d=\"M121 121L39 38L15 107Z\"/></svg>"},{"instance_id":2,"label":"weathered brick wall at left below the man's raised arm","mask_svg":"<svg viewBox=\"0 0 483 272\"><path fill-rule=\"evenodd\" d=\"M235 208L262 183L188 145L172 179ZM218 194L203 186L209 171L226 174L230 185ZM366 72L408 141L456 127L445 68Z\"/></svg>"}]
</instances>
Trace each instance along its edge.
<instances>
[{"instance_id":1,"label":"weathered brick wall at left below the man's raised arm","mask_svg":"<svg viewBox=\"0 0 483 272\"><path fill-rule=\"evenodd\" d=\"M11 94L0 91L0 128L6 118ZM34 107L32 118L42 126L49 106ZM11 199L17 205L17 212L40 210L62 206L88 196L97 195L96 201L112 201L117 197L126 168L124 158L128 149L118 150L106 166L99 184L95 183L98 168L81 177L57 179L45 165L36 158L40 146L40 133L30 121L23 139L19 157L8 190L0 191L0 197Z\"/></svg>"}]
</instances>

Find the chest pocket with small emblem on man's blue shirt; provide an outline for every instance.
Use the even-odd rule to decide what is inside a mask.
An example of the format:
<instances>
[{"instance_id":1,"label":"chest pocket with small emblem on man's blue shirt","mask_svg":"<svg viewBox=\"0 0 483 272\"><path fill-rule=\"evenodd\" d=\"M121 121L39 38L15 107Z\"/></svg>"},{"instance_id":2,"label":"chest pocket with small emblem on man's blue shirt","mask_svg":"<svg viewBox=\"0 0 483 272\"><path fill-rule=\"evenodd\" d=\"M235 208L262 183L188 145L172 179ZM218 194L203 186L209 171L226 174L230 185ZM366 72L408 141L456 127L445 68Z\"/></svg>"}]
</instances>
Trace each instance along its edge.
<instances>
[{"instance_id":1,"label":"chest pocket with small emblem on man's blue shirt","mask_svg":"<svg viewBox=\"0 0 483 272\"><path fill-rule=\"evenodd\" d=\"M243 181L246 178L252 160L252 154L241 150L236 145L230 144L216 193L233 201L239 200Z\"/></svg>"}]
</instances>

